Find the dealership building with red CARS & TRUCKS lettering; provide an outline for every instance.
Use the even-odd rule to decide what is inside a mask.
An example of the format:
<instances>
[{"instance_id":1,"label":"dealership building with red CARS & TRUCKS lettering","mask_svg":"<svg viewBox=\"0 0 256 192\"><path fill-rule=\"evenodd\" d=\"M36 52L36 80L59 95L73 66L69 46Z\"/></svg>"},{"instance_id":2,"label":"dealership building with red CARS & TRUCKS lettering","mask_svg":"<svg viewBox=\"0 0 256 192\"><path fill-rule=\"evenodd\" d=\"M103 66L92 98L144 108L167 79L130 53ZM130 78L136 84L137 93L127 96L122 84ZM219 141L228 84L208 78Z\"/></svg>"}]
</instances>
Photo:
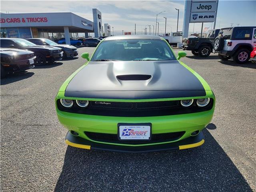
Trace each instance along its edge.
<instances>
[{"instance_id":1,"label":"dealership building with red CARS & TRUCKS lettering","mask_svg":"<svg viewBox=\"0 0 256 192\"><path fill-rule=\"evenodd\" d=\"M85 38L89 33L103 36L101 12L92 9L92 14L93 22L71 12L0 13L1 38L65 38L66 44L70 44L70 38L78 39L78 33L84 33ZM110 29L108 24L107 27ZM105 36L110 35L108 29Z\"/></svg>"}]
</instances>

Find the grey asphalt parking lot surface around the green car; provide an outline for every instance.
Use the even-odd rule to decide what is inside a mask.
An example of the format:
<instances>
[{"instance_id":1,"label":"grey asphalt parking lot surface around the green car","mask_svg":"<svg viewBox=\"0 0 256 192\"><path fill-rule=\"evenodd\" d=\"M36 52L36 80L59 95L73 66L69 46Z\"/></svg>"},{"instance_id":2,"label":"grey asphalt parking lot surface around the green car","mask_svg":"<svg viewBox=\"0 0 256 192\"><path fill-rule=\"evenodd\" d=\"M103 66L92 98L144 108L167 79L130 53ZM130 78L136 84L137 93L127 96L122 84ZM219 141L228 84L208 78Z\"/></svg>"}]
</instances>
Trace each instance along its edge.
<instances>
[{"instance_id":1,"label":"grey asphalt parking lot surface around the green car","mask_svg":"<svg viewBox=\"0 0 256 192\"><path fill-rule=\"evenodd\" d=\"M78 48L80 54L93 50ZM204 130L206 142L178 152L120 154L66 146L54 98L84 64L81 57L1 80L2 191L256 191L256 64L187 53L181 60L208 82L216 108Z\"/></svg>"}]
</instances>

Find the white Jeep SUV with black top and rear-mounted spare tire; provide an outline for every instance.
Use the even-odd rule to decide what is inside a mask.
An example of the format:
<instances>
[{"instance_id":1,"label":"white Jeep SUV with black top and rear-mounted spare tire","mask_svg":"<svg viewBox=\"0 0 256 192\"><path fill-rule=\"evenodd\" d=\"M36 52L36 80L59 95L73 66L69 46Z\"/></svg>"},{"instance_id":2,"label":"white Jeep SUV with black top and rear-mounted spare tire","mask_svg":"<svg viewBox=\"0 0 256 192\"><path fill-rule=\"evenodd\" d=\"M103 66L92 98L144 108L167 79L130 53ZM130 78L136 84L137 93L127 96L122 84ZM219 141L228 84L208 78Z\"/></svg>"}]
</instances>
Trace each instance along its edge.
<instances>
[{"instance_id":1,"label":"white Jeep SUV with black top and rear-mounted spare tire","mask_svg":"<svg viewBox=\"0 0 256 192\"><path fill-rule=\"evenodd\" d=\"M214 50L221 60L232 57L236 63L242 64L250 59L255 43L256 26L222 28L214 40Z\"/></svg>"}]
</instances>

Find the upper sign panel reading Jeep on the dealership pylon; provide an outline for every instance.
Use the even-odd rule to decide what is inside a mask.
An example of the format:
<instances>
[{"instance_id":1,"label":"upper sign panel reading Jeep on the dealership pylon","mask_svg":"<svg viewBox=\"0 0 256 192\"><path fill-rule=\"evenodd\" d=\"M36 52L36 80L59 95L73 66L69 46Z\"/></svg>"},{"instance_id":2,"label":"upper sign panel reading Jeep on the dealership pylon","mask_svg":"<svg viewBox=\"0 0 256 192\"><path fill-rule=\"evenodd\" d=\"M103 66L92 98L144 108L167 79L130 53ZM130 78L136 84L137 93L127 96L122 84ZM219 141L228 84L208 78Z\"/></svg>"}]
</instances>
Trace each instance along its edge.
<instances>
[{"instance_id":1,"label":"upper sign panel reading Jeep on the dealership pylon","mask_svg":"<svg viewBox=\"0 0 256 192\"><path fill-rule=\"evenodd\" d=\"M191 12L216 12L217 1L213 2L192 2Z\"/></svg>"}]
</instances>

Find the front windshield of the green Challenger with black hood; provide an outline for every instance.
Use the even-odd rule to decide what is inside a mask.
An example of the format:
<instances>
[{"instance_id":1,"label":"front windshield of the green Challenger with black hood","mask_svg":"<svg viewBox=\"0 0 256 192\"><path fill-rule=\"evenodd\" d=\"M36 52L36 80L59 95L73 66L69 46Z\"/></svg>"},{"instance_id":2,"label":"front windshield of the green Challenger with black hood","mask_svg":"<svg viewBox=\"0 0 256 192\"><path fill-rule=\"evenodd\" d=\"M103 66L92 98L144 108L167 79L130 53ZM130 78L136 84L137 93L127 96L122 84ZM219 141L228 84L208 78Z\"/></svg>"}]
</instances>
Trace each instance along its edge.
<instances>
[{"instance_id":1,"label":"front windshield of the green Challenger with black hood","mask_svg":"<svg viewBox=\"0 0 256 192\"><path fill-rule=\"evenodd\" d=\"M176 60L164 40L123 39L103 41L91 61Z\"/></svg>"}]
</instances>

